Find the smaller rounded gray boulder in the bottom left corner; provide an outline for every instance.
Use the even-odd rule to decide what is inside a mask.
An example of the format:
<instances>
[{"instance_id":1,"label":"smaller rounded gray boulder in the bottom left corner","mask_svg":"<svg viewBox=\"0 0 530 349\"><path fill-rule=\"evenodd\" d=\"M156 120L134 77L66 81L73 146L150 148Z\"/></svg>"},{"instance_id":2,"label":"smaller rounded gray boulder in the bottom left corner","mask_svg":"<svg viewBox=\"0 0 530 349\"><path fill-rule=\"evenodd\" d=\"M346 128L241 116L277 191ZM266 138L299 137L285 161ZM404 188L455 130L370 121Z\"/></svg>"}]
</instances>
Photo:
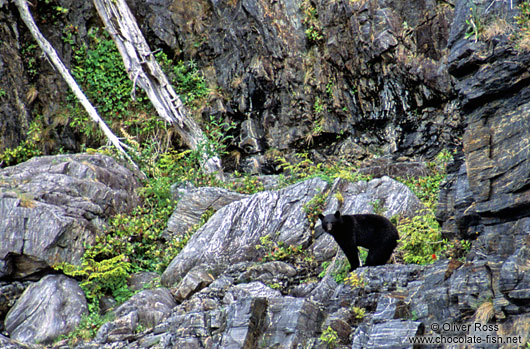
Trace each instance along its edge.
<instances>
[{"instance_id":1,"label":"smaller rounded gray boulder in the bottom left corner","mask_svg":"<svg viewBox=\"0 0 530 349\"><path fill-rule=\"evenodd\" d=\"M48 275L24 291L7 313L5 327L11 339L50 344L75 329L87 311L77 282L64 275Z\"/></svg>"}]
</instances>

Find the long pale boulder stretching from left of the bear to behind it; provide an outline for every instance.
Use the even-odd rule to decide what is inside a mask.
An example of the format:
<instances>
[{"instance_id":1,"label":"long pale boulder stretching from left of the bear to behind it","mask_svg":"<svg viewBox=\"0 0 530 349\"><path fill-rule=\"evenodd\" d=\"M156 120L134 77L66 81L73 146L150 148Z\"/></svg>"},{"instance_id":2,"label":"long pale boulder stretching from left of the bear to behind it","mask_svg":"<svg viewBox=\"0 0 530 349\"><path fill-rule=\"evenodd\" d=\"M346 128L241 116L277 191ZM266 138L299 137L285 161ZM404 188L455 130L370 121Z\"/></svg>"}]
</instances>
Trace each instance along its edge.
<instances>
[{"instance_id":1,"label":"long pale boulder stretching from left of the bear to behind it","mask_svg":"<svg viewBox=\"0 0 530 349\"><path fill-rule=\"evenodd\" d=\"M273 243L311 246L320 260L332 257L336 252L333 238L321 229L313 236L310 229L307 210L320 210L310 202L317 195L327 203L326 211L340 207L345 214L373 213L376 206L378 213L391 218L412 216L422 208L410 189L389 177L357 183L338 179L332 185L313 178L254 194L220 209L195 232L162 275L162 283L172 286L201 263L217 266L257 260L262 252L256 245L267 236Z\"/></svg>"}]
</instances>

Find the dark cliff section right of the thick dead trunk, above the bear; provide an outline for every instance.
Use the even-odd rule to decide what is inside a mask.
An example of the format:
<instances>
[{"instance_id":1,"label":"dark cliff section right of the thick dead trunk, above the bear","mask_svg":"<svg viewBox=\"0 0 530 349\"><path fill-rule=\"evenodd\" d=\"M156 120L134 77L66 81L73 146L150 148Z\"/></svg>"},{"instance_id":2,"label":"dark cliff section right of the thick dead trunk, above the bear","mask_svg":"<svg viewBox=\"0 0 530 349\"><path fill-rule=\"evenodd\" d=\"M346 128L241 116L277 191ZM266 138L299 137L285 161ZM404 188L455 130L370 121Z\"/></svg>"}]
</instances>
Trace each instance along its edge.
<instances>
[{"instance_id":1,"label":"dark cliff section right of the thick dead trunk, above the bear","mask_svg":"<svg viewBox=\"0 0 530 349\"><path fill-rule=\"evenodd\" d=\"M337 136L389 153L432 155L458 134L442 69L447 5L162 1L135 9L148 32L196 59L230 94L208 112L241 122L234 146L244 157L306 145L320 152ZM326 154L343 151L340 143Z\"/></svg>"}]
</instances>

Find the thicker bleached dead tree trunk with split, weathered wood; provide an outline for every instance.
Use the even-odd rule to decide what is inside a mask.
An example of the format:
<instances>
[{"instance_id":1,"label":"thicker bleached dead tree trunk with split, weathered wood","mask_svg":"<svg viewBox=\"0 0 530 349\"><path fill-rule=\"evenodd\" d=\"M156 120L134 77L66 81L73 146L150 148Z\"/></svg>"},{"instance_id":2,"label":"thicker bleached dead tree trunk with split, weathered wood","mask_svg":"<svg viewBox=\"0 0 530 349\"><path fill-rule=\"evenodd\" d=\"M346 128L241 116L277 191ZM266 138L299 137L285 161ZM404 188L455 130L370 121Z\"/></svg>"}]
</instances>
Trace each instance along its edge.
<instances>
[{"instance_id":1,"label":"thicker bleached dead tree trunk with split, weathered wood","mask_svg":"<svg viewBox=\"0 0 530 349\"><path fill-rule=\"evenodd\" d=\"M199 150L207 141L197 123L188 115L179 96L168 82L125 0L93 0L123 59L129 78L146 92L160 117L173 125L183 141ZM133 87L134 88L134 87ZM222 177L218 154L203 152L203 170Z\"/></svg>"}]
</instances>

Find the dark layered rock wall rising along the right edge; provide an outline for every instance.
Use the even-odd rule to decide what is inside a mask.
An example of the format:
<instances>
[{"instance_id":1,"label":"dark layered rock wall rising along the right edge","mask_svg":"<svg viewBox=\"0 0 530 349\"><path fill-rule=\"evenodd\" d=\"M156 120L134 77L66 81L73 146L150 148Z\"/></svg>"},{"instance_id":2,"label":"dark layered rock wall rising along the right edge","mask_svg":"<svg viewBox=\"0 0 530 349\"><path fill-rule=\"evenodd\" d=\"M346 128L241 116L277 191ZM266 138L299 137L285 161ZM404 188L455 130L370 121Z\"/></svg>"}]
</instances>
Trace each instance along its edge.
<instances>
[{"instance_id":1,"label":"dark layered rock wall rising along the right edge","mask_svg":"<svg viewBox=\"0 0 530 349\"><path fill-rule=\"evenodd\" d=\"M487 5L478 4L478 13L485 15ZM523 276L530 250L530 53L515 49L507 33L488 42L465 39L469 4L457 1L455 13L448 69L467 126L462 153L448 168L438 218L449 234L476 241L450 293L462 312L469 311L473 297L457 290L473 285L490 295L495 317L504 319L530 309L530 282ZM486 18L516 14L515 7L495 3ZM525 317L514 316L506 326Z\"/></svg>"}]
</instances>

